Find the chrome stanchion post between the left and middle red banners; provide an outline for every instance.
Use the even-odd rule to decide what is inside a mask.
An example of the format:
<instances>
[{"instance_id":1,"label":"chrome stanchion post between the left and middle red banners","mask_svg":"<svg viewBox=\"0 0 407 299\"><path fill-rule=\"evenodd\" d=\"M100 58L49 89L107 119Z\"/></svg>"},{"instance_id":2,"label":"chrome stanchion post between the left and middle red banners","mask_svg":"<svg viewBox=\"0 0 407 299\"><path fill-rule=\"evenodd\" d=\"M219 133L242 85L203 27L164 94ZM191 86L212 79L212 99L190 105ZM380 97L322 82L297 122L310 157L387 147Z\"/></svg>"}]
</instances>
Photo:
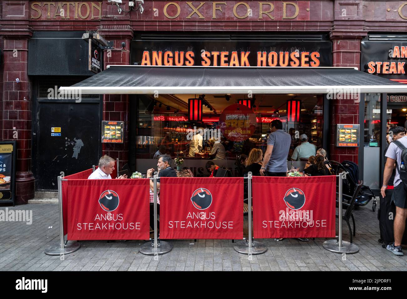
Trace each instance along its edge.
<instances>
[{"instance_id":1,"label":"chrome stanchion post between the left and middle red banners","mask_svg":"<svg viewBox=\"0 0 407 299\"><path fill-rule=\"evenodd\" d=\"M158 238L158 225L157 225L157 174L153 177L153 192L154 192L154 242L151 244L147 242L140 247L140 253L145 255L161 255L170 252L173 249L173 245L168 242L160 241Z\"/></svg>"}]
</instances>

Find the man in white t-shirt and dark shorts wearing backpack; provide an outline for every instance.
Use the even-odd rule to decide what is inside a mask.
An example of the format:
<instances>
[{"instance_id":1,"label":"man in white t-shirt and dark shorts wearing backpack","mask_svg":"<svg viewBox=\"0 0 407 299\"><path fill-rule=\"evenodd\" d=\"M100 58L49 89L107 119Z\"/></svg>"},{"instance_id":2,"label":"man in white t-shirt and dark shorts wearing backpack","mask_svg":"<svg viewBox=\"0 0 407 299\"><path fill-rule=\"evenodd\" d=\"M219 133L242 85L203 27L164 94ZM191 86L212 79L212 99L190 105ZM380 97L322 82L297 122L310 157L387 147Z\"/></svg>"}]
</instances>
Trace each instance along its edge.
<instances>
[{"instance_id":1,"label":"man in white t-shirt and dark shorts wearing backpack","mask_svg":"<svg viewBox=\"0 0 407 299\"><path fill-rule=\"evenodd\" d=\"M401 240L405 230L407 218L407 136L394 140L387 148L386 165L383 173L383 186L381 195L385 197L387 183L392 175L396 163L396 175L394 177L394 192L392 201L396 205L396 216L394 218L394 242L387 245L387 250L395 255L403 255Z\"/></svg>"}]
</instances>

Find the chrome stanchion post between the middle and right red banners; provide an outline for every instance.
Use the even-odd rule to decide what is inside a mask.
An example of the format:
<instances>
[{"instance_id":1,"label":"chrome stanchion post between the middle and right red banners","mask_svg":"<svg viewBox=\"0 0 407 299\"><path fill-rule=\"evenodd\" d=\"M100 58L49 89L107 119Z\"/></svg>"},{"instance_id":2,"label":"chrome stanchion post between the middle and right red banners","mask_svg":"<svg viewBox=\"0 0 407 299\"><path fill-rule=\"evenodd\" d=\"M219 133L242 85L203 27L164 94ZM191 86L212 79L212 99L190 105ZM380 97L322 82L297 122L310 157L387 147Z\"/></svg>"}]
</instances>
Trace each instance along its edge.
<instances>
[{"instance_id":1,"label":"chrome stanchion post between the middle and right red banners","mask_svg":"<svg viewBox=\"0 0 407 299\"><path fill-rule=\"evenodd\" d=\"M241 241L234 245L234 250L244 254L260 254L267 251L263 243L257 242L252 238L252 172L247 174L247 195L249 205L249 242Z\"/></svg>"}]
</instances>

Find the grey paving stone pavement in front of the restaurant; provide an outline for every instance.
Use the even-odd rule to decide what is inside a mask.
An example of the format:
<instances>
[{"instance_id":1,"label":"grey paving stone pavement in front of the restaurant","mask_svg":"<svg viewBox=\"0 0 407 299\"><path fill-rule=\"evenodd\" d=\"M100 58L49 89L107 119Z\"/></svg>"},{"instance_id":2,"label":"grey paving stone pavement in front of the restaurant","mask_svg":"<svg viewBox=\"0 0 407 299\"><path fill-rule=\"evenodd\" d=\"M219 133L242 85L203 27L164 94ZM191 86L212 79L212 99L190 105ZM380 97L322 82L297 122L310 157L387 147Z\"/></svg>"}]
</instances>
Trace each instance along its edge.
<instances>
[{"instance_id":1,"label":"grey paving stone pavement in front of the restaurant","mask_svg":"<svg viewBox=\"0 0 407 299\"><path fill-rule=\"evenodd\" d=\"M379 203L378 203L379 205ZM379 206L378 206L379 208ZM4 210L5 207L1 206ZM372 203L354 211L356 254L341 255L322 247L325 238L261 239L268 248L261 255L233 249L230 240L169 240L173 250L158 257L138 253L144 241L81 241L71 254L50 256L44 250L59 242L57 204L28 204L9 210L32 210L33 223L0 222L1 271L406 271L407 256L383 249L379 239L377 210ZM247 221L247 220L246 220ZM344 240L349 232L344 223ZM407 251L407 249L405 250Z\"/></svg>"}]
</instances>

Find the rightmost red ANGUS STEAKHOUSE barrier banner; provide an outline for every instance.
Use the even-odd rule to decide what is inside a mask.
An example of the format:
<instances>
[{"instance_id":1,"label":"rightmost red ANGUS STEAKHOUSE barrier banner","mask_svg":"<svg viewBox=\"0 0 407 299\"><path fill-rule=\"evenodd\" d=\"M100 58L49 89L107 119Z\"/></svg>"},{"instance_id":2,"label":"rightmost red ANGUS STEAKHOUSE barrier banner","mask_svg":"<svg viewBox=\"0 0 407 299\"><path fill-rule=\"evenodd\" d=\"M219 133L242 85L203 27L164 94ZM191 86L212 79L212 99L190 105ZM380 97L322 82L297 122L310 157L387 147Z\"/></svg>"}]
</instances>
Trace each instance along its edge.
<instances>
[{"instance_id":1,"label":"rightmost red ANGUS STEAKHOUSE barrier banner","mask_svg":"<svg viewBox=\"0 0 407 299\"><path fill-rule=\"evenodd\" d=\"M336 177L253 177L255 238L335 238Z\"/></svg>"}]
</instances>

